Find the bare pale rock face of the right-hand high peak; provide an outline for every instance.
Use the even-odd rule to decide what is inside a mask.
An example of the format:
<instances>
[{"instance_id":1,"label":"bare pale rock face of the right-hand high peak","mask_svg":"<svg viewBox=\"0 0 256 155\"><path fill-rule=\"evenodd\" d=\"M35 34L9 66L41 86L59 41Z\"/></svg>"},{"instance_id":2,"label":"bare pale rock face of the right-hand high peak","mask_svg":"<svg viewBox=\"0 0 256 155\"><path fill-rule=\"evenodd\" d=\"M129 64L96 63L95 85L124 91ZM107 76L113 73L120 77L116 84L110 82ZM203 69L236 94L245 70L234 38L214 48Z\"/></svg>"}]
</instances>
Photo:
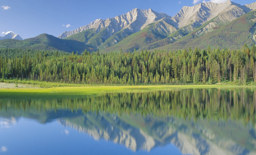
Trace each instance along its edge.
<instances>
[{"instance_id":1,"label":"bare pale rock face of the right-hand high peak","mask_svg":"<svg viewBox=\"0 0 256 155\"><path fill-rule=\"evenodd\" d=\"M214 17L224 23L231 22L232 20L249 12L250 9L231 2L230 0L225 3L200 3L192 7L184 6L172 20L178 24L178 27L188 25L201 26Z\"/></svg>"}]
</instances>

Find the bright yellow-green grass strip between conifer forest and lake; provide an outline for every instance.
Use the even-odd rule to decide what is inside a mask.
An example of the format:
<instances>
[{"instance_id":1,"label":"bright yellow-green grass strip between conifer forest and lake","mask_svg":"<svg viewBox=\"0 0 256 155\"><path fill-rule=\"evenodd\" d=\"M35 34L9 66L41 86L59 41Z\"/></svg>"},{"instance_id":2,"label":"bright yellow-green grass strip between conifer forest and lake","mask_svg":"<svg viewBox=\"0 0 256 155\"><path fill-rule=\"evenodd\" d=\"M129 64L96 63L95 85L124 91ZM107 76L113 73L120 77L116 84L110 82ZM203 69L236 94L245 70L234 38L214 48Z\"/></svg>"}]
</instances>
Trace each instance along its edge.
<instances>
[{"instance_id":1,"label":"bright yellow-green grass strip between conifer forest and lake","mask_svg":"<svg viewBox=\"0 0 256 155\"><path fill-rule=\"evenodd\" d=\"M88 96L111 92L138 93L188 88L256 88L241 85L149 85L149 86L61 86L52 88L0 88L0 97L17 96Z\"/></svg>"}]
</instances>

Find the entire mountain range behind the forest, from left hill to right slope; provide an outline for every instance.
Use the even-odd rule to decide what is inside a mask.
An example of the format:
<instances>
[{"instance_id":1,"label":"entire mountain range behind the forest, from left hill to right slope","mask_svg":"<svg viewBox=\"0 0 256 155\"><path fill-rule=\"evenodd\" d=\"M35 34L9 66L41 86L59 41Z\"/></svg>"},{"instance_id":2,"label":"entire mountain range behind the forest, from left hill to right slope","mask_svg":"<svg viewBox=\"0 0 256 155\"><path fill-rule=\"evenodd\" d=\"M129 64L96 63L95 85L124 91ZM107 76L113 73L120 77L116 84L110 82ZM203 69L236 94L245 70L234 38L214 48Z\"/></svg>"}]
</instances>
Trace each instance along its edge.
<instances>
[{"instance_id":1,"label":"entire mountain range behind the forest, from left hill to right slope","mask_svg":"<svg viewBox=\"0 0 256 155\"><path fill-rule=\"evenodd\" d=\"M184 6L171 17L152 9L130 12L65 31L57 37L0 41L0 48L47 49L66 52L173 50L188 47L240 48L256 41L256 2L240 5L204 2Z\"/></svg>"}]
</instances>

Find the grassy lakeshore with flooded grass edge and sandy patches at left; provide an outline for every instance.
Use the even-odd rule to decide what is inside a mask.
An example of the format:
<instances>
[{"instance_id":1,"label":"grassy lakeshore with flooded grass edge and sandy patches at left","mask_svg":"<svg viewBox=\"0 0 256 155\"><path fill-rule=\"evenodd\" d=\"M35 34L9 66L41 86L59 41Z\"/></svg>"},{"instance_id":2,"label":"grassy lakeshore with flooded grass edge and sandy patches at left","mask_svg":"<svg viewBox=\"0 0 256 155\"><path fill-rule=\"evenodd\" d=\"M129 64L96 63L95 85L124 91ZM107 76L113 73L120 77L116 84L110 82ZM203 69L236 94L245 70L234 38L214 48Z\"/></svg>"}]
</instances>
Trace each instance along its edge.
<instances>
[{"instance_id":1,"label":"grassy lakeshore with flooded grass edge and sandy patches at left","mask_svg":"<svg viewBox=\"0 0 256 155\"><path fill-rule=\"evenodd\" d=\"M3 83L0 83L0 85ZM12 83L15 86L15 83ZM8 85L8 84L7 84ZM56 99L56 98L80 98L86 96L99 96L106 93L150 93L159 91L175 91L184 89L207 89L215 90L238 90L246 88L255 90L256 86L235 86L235 85L149 85L149 86L66 86L39 88L28 86L14 88L0 88L0 98L9 99ZM18 84L18 86L23 86ZM239 91L239 90L238 90Z\"/></svg>"}]
</instances>

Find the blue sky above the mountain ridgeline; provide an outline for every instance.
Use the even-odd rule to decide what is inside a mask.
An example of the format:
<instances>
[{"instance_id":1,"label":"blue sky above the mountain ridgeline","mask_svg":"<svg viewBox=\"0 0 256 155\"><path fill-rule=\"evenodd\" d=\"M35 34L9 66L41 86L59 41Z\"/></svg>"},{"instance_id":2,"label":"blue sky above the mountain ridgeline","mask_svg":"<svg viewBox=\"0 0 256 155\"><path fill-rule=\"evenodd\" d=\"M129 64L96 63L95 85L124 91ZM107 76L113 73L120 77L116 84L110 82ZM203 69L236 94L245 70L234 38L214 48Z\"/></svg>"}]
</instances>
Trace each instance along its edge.
<instances>
[{"instance_id":1,"label":"blue sky above the mountain ridgeline","mask_svg":"<svg viewBox=\"0 0 256 155\"><path fill-rule=\"evenodd\" d=\"M42 33L54 36L85 26L94 20L125 14L134 8L164 12L174 16L183 6L203 0L0 0L0 36L7 31L23 39ZM226 0L208 0L223 2ZM255 0L232 0L250 4Z\"/></svg>"}]
</instances>

